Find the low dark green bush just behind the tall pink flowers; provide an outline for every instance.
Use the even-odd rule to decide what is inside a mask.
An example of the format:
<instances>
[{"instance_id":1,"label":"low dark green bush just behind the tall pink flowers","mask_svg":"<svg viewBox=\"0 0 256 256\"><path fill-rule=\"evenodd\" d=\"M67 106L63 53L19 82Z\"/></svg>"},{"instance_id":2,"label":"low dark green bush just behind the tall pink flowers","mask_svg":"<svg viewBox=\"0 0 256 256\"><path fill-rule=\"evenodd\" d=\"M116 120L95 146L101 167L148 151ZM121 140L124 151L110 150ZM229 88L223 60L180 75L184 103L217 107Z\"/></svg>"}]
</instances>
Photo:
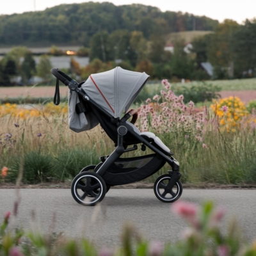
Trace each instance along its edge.
<instances>
[{"instance_id":1,"label":"low dark green bush just behind the tall pink flowers","mask_svg":"<svg viewBox=\"0 0 256 256\"><path fill-rule=\"evenodd\" d=\"M184 103L188 103L190 100L197 103L218 99L220 97L218 94L220 90L220 86L214 86L204 82L192 86L173 86L173 91L176 95L184 96Z\"/></svg>"}]
</instances>

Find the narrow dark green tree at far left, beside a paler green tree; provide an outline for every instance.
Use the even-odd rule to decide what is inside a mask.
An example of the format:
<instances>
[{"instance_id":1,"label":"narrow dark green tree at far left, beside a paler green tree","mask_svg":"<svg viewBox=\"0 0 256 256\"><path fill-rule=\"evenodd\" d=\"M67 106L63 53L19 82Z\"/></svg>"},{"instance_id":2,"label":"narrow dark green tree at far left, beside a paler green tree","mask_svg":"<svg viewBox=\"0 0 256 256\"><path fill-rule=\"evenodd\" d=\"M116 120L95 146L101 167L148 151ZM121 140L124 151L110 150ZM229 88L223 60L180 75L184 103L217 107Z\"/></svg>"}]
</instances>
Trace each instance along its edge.
<instances>
[{"instance_id":1,"label":"narrow dark green tree at far left, beside a paler green tree","mask_svg":"<svg viewBox=\"0 0 256 256\"><path fill-rule=\"evenodd\" d=\"M36 63L33 58L32 52L27 51L24 55L24 61L21 64L21 74L24 83L28 83L28 80L36 72Z\"/></svg>"}]
</instances>

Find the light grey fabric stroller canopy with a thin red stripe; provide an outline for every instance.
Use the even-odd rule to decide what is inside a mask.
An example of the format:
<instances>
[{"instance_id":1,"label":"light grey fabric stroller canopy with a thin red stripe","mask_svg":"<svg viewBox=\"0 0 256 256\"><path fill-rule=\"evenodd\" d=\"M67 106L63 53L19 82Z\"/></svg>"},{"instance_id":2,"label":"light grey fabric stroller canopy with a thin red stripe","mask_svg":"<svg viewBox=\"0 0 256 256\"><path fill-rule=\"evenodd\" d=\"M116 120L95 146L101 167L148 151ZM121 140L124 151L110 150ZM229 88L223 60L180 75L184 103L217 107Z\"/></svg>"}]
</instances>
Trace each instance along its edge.
<instances>
[{"instance_id":1,"label":"light grey fabric stroller canopy with a thin red stripe","mask_svg":"<svg viewBox=\"0 0 256 256\"><path fill-rule=\"evenodd\" d=\"M81 88L94 102L117 118L123 110L127 112L148 77L145 72L132 72L116 67L90 75Z\"/></svg>"}]
</instances>

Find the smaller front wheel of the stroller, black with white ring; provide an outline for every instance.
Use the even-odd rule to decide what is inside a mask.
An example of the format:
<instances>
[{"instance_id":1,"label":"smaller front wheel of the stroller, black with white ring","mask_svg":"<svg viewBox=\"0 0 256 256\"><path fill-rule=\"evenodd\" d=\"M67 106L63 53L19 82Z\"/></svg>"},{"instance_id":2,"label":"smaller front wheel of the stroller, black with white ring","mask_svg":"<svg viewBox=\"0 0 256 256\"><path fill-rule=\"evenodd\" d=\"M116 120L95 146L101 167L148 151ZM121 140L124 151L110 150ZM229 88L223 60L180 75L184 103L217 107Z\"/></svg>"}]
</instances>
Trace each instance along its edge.
<instances>
[{"instance_id":1,"label":"smaller front wheel of the stroller, black with white ring","mask_svg":"<svg viewBox=\"0 0 256 256\"><path fill-rule=\"evenodd\" d=\"M168 184L170 179L170 175L164 174L158 177L154 184L154 193L156 197L164 203L173 203L178 200L182 194L182 184L179 180L173 186L172 191L169 193L164 191L164 187Z\"/></svg>"}]
</instances>

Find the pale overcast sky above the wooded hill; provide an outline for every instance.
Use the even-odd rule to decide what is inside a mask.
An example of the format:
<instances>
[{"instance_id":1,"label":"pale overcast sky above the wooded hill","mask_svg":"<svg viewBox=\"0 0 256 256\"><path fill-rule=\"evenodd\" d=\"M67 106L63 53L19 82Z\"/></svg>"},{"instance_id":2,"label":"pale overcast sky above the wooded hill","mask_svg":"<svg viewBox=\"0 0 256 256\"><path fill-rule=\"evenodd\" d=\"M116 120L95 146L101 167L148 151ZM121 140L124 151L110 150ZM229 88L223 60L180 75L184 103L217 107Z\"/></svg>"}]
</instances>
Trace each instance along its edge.
<instances>
[{"instance_id":1,"label":"pale overcast sky above the wooded hill","mask_svg":"<svg viewBox=\"0 0 256 256\"><path fill-rule=\"evenodd\" d=\"M59 4L85 3L86 0L0 0L0 15L42 11ZM140 3L158 7L162 12L188 12L205 15L223 22L225 19L236 20L243 24L246 19L256 18L256 0L108 0L115 5Z\"/></svg>"}]
</instances>

